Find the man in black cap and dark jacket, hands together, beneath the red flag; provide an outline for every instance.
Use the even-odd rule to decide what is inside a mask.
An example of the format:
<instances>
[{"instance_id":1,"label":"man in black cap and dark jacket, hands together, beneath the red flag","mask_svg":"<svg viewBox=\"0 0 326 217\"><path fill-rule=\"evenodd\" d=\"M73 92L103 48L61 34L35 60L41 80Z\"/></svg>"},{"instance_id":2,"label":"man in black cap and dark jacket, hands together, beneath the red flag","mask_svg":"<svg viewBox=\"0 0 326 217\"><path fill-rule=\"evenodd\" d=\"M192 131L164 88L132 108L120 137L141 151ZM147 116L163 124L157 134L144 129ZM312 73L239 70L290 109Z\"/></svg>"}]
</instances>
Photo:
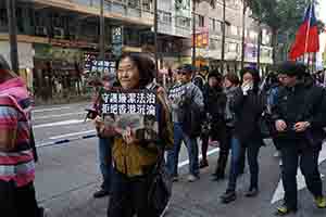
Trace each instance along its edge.
<instances>
[{"instance_id":1,"label":"man in black cap and dark jacket, hands together, beneath the red flag","mask_svg":"<svg viewBox=\"0 0 326 217\"><path fill-rule=\"evenodd\" d=\"M325 138L323 128L326 126L325 90L304 81L306 67L303 64L286 62L280 65L278 74L285 88L279 91L273 117L283 161L285 204L277 208L276 215L285 216L297 210L298 165L316 206L326 208L318 170L318 155Z\"/></svg>"}]
</instances>

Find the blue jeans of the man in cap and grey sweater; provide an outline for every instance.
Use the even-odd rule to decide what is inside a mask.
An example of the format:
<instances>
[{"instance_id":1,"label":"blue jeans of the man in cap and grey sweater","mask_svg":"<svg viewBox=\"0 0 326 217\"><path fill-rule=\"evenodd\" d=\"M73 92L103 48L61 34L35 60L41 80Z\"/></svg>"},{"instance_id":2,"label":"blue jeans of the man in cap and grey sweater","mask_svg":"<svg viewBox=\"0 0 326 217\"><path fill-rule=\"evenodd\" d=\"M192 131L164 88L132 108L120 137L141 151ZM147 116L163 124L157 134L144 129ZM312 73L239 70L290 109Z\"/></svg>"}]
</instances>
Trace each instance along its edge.
<instances>
[{"instance_id":1,"label":"blue jeans of the man in cap and grey sweater","mask_svg":"<svg viewBox=\"0 0 326 217\"><path fill-rule=\"evenodd\" d=\"M167 151L166 167L172 176L178 176L178 158L181 148L181 142L185 142L189 156L189 173L193 176L199 176L199 151L197 138L190 138L183 131L181 125L174 124L174 146Z\"/></svg>"}]
</instances>

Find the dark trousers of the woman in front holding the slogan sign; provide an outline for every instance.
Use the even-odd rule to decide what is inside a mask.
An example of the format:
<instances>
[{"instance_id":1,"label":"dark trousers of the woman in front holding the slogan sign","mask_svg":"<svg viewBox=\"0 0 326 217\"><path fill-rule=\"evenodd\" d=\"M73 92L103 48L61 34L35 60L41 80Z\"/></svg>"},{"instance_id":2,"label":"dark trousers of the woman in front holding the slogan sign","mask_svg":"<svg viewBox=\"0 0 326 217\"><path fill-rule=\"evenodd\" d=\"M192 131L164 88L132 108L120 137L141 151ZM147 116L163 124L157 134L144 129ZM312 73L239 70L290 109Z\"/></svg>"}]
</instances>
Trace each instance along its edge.
<instances>
[{"instance_id":1,"label":"dark trousers of the woman in front holding the slogan sign","mask_svg":"<svg viewBox=\"0 0 326 217\"><path fill-rule=\"evenodd\" d=\"M148 176L128 178L114 170L108 217L158 217L148 203Z\"/></svg>"}]
</instances>

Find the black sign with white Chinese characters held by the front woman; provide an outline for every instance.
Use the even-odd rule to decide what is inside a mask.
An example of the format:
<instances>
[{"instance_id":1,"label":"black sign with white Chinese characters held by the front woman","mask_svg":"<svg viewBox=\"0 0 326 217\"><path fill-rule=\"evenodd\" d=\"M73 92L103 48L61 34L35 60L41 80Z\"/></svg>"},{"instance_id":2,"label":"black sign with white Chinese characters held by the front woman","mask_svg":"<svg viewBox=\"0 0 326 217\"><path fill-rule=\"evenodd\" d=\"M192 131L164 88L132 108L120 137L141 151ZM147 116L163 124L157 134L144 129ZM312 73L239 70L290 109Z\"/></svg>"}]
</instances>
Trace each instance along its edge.
<instances>
[{"instance_id":1,"label":"black sign with white Chinese characters held by the front woman","mask_svg":"<svg viewBox=\"0 0 326 217\"><path fill-rule=\"evenodd\" d=\"M139 142L155 142L159 135L158 98L150 90L108 91L102 95L104 125L134 133Z\"/></svg>"}]
</instances>

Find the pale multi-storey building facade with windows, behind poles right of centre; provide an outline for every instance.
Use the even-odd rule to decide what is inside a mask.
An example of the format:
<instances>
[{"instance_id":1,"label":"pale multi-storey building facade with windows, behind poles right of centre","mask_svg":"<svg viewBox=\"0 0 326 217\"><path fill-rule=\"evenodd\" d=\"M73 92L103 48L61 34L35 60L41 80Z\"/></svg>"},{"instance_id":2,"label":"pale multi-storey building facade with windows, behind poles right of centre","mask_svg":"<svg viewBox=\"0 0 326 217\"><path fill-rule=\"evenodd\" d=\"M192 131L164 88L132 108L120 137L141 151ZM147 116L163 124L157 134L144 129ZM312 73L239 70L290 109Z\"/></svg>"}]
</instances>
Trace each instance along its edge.
<instances>
[{"instance_id":1,"label":"pale multi-storey building facade with windows, behind poles right of centre","mask_svg":"<svg viewBox=\"0 0 326 217\"><path fill-rule=\"evenodd\" d=\"M161 62L163 67L181 63L191 63L192 54L192 0L161 0L159 1L160 18L159 31L162 44ZM217 0L215 9L206 1L196 5L196 31L208 35L208 43L197 48L197 66L206 65L221 68L223 1ZM242 53L242 0L226 0L226 41L225 41L225 72L240 69ZM258 62L259 26L246 16L244 63L255 65ZM272 34L266 26L262 26L261 40L261 73L273 64ZM164 42L165 43L164 43ZM163 50L165 49L165 50Z\"/></svg>"}]
</instances>

